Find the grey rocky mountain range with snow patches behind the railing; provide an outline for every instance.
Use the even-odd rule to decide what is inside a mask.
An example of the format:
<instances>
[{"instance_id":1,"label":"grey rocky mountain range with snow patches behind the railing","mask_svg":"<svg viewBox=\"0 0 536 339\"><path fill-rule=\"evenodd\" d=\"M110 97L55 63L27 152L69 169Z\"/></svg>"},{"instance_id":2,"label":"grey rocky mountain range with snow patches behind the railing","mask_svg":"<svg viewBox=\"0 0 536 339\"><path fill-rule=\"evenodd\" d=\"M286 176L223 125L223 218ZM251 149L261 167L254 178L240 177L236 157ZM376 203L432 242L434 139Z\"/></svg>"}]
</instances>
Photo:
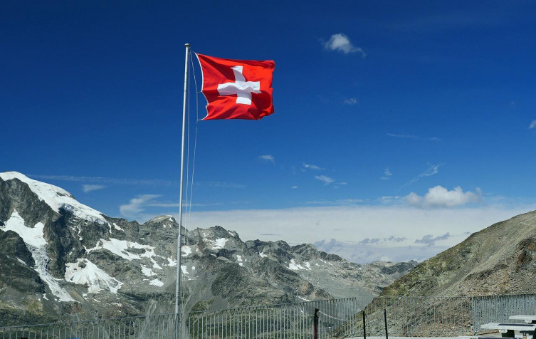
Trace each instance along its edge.
<instances>
[{"instance_id":1,"label":"grey rocky mountain range with snow patches behind the railing","mask_svg":"<svg viewBox=\"0 0 536 339\"><path fill-rule=\"evenodd\" d=\"M170 216L107 217L65 190L0 173L0 326L173 310ZM184 309L377 296L416 263L352 264L310 244L183 228Z\"/></svg>"}]
</instances>

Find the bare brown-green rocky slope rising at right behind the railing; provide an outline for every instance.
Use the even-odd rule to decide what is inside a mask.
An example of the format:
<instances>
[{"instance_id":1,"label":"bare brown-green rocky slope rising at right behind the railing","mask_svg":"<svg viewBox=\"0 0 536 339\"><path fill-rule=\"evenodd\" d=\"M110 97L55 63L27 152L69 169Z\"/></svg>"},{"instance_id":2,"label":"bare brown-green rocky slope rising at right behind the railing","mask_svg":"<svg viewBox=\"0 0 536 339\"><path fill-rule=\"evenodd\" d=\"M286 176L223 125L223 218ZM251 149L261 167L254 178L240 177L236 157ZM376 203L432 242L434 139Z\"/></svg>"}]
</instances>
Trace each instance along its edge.
<instances>
[{"instance_id":1,"label":"bare brown-green rocky slope rising at right behind the railing","mask_svg":"<svg viewBox=\"0 0 536 339\"><path fill-rule=\"evenodd\" d=\"M487 296L535 293L536 212L471 234L422 262L383 296Z\"/></svg>"}]
</instances>

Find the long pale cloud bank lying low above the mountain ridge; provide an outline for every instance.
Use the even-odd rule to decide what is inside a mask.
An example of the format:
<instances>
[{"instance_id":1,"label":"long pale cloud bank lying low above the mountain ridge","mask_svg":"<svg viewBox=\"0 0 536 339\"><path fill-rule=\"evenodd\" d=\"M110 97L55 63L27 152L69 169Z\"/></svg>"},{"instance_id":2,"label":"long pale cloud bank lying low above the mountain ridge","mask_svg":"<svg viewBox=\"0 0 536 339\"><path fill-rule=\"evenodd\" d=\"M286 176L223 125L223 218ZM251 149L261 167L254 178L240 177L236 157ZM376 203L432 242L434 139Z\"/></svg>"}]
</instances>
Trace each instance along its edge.
<instances>
[{"instance_id":1,"label":"long pale cloud bank lying low above the mountain ridge","mask_svg":"<svg viewBox=\"0 0 536 339\"><path fill-rule=\"evenodd\" d=\"M393 197L396 199L396 197ZM487 205L458 209L420 209L409 205L311 206L292 209L243 209L192 212L191 227L221 225L235 230L241 239L284 240L290 244L314 243L322 239L361 241L369 238L406 238L407 246L425 246L415 241L425 236L457 235L441 241L441 246L454 246L466 232L480 231L495 222L536 209L536 205L504 207ZM336 230L335 230L336 228ZM266 234L266 230L274 236ZM304 232L304 229L310 231ZM459 236L458 236L459 235ZM468 234L465 235L465 237ZM426 238L425 238L426 240ZM401 244L401 243L400 243Z\"/></svg>"}]
</instances>

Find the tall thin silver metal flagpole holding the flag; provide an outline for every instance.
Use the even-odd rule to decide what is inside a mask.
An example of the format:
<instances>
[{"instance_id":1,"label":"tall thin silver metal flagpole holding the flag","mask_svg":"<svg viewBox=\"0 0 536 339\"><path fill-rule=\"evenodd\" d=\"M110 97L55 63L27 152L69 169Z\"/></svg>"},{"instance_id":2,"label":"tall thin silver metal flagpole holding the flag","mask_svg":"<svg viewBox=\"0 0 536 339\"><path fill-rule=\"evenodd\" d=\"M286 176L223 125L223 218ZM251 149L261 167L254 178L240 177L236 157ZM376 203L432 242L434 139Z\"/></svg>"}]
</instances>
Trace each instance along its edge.
<instances>
[{"instance_id":1,"label":"tall thin silver metal flagpole holding the flag","mask_svg":"<svg viewBox=\"0 0 536 339\"><path fill-rule=\"evenodd\" d=\"M182 103L182 149L181 149L181 183L179 193L179 236L177 236L177 283L175 286L175 315L179 315L179 291L181 287L181 246L182 246L182 188L184 180L184 135L186 134L186 95L188 85L188 56L190 44L185 43L186 57L184 60L184 100Z\"/></svg>"}]
</instances>

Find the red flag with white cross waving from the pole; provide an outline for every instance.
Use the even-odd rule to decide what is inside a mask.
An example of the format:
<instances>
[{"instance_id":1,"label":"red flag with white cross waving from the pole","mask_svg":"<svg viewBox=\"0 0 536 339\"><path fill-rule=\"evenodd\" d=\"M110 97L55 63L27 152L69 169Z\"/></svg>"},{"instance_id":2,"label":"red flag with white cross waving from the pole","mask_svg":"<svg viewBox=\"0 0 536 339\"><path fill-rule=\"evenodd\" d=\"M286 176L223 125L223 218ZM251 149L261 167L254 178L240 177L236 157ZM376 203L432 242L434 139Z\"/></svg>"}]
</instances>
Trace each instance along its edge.
<instances>
[{"instance_id":1,"label":"red flag with white cross waving from the pole","mask_svg":"<svg viewBox=\"0 0 536 339\"><path fill-rule=\"evenodd\" d=\"M273 113L273 61L196 55L203 73L201 92L208 102L203 120L259 120Z\"/></svg>"}]
</instances>

